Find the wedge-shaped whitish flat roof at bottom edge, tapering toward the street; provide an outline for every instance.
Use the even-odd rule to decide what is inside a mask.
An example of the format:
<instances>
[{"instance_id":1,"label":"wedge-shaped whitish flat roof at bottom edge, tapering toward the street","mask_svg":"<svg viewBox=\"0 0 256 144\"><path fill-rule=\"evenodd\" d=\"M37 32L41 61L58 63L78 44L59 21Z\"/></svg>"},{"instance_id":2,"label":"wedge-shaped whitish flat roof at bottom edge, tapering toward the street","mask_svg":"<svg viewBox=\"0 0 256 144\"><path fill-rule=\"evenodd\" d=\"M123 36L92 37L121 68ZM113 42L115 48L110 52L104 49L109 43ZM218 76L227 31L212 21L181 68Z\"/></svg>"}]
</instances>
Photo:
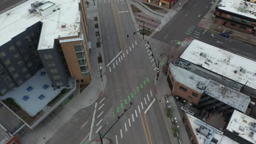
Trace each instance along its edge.
<instances>
[{"instance_id":1,"label":"wedge-shaped whitish flat roof at bottom edge, tapering toward the street","mask_svg":"<svg viewBox=\"0 0 256 144\"><path fill-rule=\"evenodd\" d=\"M189 113L186 113L189 123L193 129L193 133L196 136L196 139L199 143L201 144L212 144L211 140L217 140L217 144L238 144L236 141L230 139L229 137L225 136L222 134L221 131L218 129L212 127L209 124L206 124L205 122L202 122L200 119L197 119L196 117L190 115ZM202 133L198 132L197 129L204 128L209 130L208 133L206 134L211 134L211 135L203 135ZM203 130L201 130L203 131Z\"/></svg>"}]
</instances>

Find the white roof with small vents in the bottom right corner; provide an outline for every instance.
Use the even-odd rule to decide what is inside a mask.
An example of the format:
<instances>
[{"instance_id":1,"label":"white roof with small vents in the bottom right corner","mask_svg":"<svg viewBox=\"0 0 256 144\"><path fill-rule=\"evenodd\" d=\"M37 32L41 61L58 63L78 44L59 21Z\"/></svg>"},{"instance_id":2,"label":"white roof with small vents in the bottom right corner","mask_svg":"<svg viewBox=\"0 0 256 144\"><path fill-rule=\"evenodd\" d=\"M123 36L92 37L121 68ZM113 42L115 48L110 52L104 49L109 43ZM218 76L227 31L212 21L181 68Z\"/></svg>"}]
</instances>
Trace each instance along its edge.
<instances>
[{"instance_id":1,"label":"white roof with small vents in the bottom right corner","mask_svg":"<svg viewBox=\"0 0 256 144\"><path fill-rule=\"evenodd\" d=\"M243 139L246 139L252 143L256 143L256 125L254 126L254 135L252 137L249 136L249 134L253 132L253 130L251 130L251 128L253 127L251 122L256 123L256 119L253 119L235 110L232 114L232 117L230 118L228 127L226 127L226 129L231 132L236 131L236 133L238 133L238 136L243 137Z\"/></svg>"}]
</instances>

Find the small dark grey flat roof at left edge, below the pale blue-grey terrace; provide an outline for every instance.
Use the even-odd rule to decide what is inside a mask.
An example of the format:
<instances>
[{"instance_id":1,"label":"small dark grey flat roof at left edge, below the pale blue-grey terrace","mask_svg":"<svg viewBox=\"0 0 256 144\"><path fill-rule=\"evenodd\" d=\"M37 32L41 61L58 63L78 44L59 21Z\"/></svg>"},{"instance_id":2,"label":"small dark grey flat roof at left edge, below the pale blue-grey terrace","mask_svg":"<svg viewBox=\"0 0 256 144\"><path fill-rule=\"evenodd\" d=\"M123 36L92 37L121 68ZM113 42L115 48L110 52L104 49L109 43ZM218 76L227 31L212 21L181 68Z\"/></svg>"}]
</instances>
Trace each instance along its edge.
<instances>
[{"instance_id":1,"label":"small dark grey flat roof at left edge, below the pale blue-grey terrace","mask_svg":"<svg viewBox=\"0 0 256 144\"><path fill-rule=\"evenodd\" d=\"M7 129L7 131L10 134L14 134L22 125L24 125L24 123L18 117L16 117L1 103L0 103L0 113L1 113L0 124L3 125L3 127Z\"/></svg>"}]
</instances>

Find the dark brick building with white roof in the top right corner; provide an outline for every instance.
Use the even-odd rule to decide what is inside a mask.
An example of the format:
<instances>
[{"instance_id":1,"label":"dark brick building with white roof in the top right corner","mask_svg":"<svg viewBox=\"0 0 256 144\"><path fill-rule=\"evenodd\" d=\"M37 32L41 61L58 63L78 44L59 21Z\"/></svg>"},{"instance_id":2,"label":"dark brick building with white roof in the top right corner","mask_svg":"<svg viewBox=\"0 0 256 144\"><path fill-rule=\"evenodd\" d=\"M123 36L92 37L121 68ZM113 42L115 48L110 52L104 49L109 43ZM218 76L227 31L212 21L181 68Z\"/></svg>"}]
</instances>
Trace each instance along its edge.
<instances>
[{"instance_id":1,"label":"dark brick building with white roof in the top right corner","mask_svg":"<svg viewBox=\"0 0 256 144\"><path fill-rule=\"evenodd\" d=\"M222 0L216 7L214 23L256 35L256 4L242 0Z\"/></svg>"}]
</instances>

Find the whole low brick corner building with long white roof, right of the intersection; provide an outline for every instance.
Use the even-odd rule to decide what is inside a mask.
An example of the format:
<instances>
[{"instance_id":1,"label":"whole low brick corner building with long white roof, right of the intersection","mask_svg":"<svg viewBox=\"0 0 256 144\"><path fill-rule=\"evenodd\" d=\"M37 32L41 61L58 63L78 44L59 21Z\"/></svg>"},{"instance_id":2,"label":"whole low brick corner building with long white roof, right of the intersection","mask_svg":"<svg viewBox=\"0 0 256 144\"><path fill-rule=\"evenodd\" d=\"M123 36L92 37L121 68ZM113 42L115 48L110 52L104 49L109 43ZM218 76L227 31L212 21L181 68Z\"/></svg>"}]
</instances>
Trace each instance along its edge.
<instances>
[{"instance_id":1,"label":"whole low brick corner building with long white roof, right of the intersection","mask_svg":"<svg viewBox=\"0 0 256 144\"><path fill-rule=\"evenodd\" d=\"M253 66L255 65L255 66ZM256 62L193 40L177 61L170 63L167 81L172 94L199 109L245 113L255 99Z\"/></svg>"}]
</instances>

